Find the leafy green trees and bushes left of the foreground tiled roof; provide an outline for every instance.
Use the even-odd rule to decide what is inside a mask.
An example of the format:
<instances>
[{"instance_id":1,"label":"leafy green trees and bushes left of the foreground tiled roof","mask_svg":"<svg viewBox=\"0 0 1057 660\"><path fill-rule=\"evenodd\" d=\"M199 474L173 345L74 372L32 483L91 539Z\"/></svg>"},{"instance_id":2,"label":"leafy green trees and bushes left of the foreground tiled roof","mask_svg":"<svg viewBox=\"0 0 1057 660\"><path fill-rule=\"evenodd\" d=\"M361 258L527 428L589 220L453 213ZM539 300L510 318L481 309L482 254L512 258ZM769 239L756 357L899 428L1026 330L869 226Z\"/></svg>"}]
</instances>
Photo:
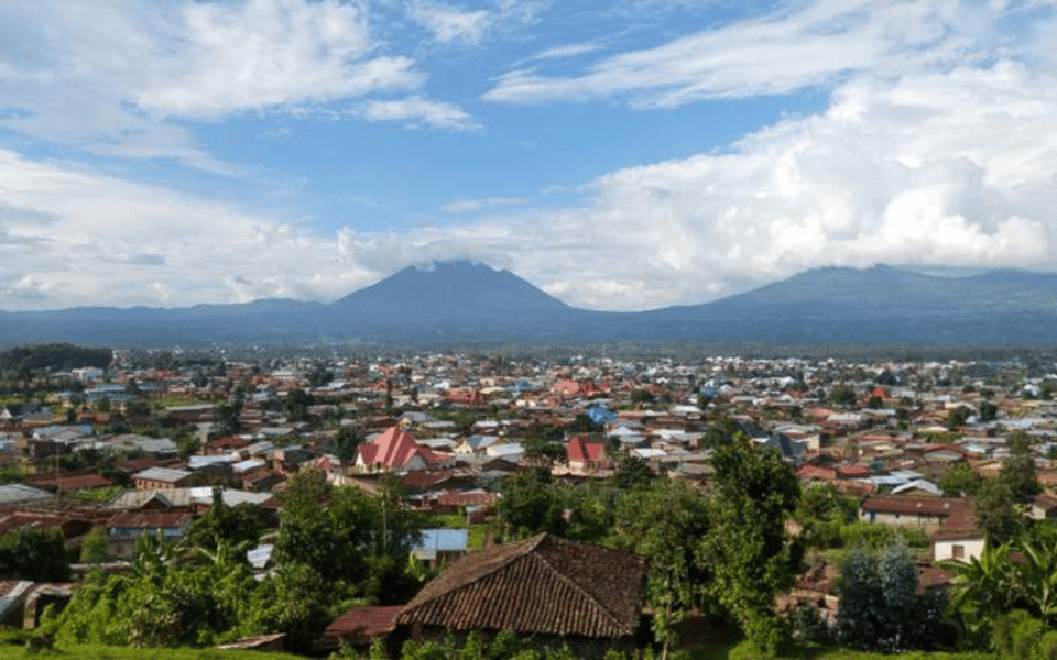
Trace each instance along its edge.
<instances>
[{"instance_id":1,"label":"leafy green trees and bushes left of the foreground tiled roof","mask_svg":"<svg viewBox=\"0 0 1057 660\"><path fill-rule=\"evenodd\" d=\"M62 648L204 647L281 631L287 650L307 651L349 606L406 598L421 586L408 571L419 520L390 492L370 497L304 470L290 481L282 520L276 571L259 582L246 549L265 521L215 499L186 547L141 538L130 575L89 575L65 609L45 614L41 634Z\"/></svg>"}]
</instances>

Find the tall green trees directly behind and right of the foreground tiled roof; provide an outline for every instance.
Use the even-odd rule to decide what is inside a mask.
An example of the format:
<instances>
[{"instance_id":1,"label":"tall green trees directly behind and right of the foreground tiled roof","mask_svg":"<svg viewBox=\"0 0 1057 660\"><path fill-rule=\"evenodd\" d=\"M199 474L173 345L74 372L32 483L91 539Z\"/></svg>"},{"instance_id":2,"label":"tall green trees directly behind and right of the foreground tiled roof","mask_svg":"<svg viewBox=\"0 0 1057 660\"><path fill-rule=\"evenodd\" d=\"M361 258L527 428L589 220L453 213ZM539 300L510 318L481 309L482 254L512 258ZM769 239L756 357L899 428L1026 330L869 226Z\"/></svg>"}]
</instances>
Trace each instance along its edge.
<instances>
[{"instance_id":1,"label":"tall green trees directly behind and right of the foreground tiled roof","mask_svg":"<svg viewBox=\"0 0 1057 660\"><path fill-rule=\"evenodd\" d=\"M500 519L515 536L549 531L649 557L646 598L665 648L683 613L710 606L761 652L776 651L791 631L771 605L800 557L783 526L798 502L797 480L773 450L756 451L737 435L717 443L711 496L636 479L632 463L606 483L575 486L553 483L546 471L524 472L504 480Z\"/></svg>"}]
</instances>

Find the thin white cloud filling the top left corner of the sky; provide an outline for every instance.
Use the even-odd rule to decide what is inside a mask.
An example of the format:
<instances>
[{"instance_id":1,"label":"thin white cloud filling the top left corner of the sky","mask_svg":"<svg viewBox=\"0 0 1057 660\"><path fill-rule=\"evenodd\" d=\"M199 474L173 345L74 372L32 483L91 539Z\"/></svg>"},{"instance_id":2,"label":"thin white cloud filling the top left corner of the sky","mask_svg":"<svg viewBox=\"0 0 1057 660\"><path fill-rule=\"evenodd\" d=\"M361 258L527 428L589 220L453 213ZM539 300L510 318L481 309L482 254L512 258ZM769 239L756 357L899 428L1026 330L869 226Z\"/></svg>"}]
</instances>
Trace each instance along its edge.
<instances>
[{"instance_id":1,"label":"thin white cloud filling the top left corner of the sky","mask_svg":"<svg viewBox=\"0 0 1057 660\"><path fill-rule=\"evenodd\" d=\"M426 74L385 54L366 6L338 0L0 6L0 128L120 157L231 175L179 120L407 94Z\"/></svg>"}]
</instances>

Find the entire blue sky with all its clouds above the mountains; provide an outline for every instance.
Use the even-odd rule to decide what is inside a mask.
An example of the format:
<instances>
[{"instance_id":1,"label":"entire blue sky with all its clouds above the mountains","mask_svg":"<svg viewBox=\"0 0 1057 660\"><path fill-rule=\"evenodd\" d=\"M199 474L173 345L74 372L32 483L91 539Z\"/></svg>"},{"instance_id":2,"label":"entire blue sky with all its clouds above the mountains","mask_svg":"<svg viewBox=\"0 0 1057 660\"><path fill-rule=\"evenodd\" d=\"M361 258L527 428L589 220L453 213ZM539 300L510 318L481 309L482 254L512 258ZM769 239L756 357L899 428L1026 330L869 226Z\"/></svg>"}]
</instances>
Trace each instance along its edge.
<instances>
[{"instance_id":1,"label":"entire blue sky with all its clouds above the mountains","mask_svg":"<svg viewBox=\"0 0 1057 660\"><path fill-rule=\"evenodd\" d=\"M0 309L1057 270L1057 2L4 0Z\"/></svg>"}]
</instances>

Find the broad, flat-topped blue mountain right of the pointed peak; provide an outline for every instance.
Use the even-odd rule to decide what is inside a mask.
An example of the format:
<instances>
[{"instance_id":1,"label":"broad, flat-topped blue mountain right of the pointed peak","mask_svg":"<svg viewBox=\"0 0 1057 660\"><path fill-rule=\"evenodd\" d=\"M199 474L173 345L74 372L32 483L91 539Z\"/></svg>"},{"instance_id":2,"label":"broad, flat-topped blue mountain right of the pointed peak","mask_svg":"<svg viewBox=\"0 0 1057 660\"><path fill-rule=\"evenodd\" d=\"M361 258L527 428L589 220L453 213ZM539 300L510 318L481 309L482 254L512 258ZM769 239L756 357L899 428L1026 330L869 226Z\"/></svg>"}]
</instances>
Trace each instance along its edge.
<instances>
[{"instance_id":1,"label":"broad, flat-topped blue mountain right of the pointed peak","mask_svg":"<svg viewBox=\"0 0 1057 660\"><path fill-rule=\"evenodd\" d=\"M940 277L881 265L815 268L712 302L644 312L639 322L701 339L1007 345L1054 343L1055 321L1054 274Z\"/></svg>"}]
</instances>

